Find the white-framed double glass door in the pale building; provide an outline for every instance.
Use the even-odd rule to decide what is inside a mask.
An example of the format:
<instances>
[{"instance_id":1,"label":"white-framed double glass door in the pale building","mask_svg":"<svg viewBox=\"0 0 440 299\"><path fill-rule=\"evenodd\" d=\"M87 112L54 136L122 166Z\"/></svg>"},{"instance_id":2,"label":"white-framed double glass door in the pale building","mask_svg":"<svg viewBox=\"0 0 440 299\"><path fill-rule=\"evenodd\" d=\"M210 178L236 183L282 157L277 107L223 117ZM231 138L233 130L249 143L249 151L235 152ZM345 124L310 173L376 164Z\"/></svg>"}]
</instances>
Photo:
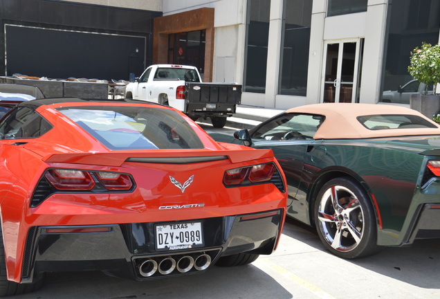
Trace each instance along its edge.
<instances>
[{"instance_id":1,"label":"white-framed double glass door in the pale building","mask_svg":"<svg viewBox=\"0 0 440 299\"><path fill-rule=\"evenodd\" d=\"M325 43L321 102L358 102L362 39Z\"/></svg>"}]
</instances>

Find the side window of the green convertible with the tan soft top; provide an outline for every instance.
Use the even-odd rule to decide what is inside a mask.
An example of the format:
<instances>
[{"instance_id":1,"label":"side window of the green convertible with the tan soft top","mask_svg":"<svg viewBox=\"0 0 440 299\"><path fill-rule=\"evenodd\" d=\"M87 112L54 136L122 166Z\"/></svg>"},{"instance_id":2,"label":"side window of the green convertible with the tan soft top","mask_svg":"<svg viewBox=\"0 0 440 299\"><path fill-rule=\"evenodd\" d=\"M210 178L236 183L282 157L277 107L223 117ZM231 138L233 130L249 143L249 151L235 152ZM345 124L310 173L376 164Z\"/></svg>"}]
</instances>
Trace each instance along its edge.
<instances>
[{"instance_id":1,"label":"side window of the green convertible with the tan soft top","mask_svg":"<svg viewBox=\"0 0 440 299\"><path fill-rule=\"evenodd\" d=\"M281 114L250 132L252 138L270 141L312 139L325 117L312 114Z\"/></svg>"}]
</instances>

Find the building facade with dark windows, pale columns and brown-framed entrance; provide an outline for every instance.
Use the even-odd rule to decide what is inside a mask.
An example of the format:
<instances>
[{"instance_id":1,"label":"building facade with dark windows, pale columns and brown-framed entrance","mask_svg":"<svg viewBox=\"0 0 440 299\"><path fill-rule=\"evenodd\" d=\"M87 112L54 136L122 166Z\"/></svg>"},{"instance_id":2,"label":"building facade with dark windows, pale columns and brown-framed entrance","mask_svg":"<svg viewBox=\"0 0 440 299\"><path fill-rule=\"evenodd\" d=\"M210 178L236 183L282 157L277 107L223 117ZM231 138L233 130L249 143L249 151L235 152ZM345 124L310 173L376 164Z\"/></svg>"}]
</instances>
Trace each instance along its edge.
<instances>
[{"instance_id":1,"label":"building facade with dark windows, pale columns and brown-framed entrance","mask_svg":"<svg viewBox=\"0 0 440 299\"><path fill-rule=\"evenodd\" d=\"M5 75L128 79L152 63L243 84L242 104L409 103L439 0L0 0ZM0 57L1 58L1 57Z\"/></svg>"}]
</instances>

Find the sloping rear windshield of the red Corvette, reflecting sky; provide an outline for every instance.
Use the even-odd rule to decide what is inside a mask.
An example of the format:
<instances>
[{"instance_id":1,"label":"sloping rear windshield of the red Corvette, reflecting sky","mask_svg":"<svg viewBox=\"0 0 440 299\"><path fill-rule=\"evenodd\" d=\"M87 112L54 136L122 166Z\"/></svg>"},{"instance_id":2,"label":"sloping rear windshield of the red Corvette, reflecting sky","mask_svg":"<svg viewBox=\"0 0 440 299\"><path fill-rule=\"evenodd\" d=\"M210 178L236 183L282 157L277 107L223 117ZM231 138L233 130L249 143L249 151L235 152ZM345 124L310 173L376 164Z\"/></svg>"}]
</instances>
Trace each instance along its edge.
<instances>
[{"instance_id":1,"label":"sloping rear windshield of the red Corvette, reflecting sky","mask_svg":"<svg viewBox=\"0 0 440 299\"><path fill-rule=\"evenodd\" d=\"M176 111L134 106L58 109L109 149L201 149L203 143Z\"/></svg>"}]
</instances>

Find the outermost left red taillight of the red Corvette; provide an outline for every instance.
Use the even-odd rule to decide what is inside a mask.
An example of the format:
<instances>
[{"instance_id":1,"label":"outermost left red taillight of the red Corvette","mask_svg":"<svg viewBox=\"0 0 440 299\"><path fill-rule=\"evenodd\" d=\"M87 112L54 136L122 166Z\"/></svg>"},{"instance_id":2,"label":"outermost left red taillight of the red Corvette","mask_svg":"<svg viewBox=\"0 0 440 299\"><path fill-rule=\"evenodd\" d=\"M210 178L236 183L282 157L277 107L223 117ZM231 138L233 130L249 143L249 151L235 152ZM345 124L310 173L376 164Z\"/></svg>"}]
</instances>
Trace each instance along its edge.
<instances>
[{"instance_id":1,"label":"outermost left red taillight of the red Corvette","mask_svg":"<svg viewBox=\"0 0 440 299\"><path fill-rule=\"evenodd\" d=\"M46 179L58 190L92 190L95 181L82 170L49 170Z\"/></svg>"}]
</instances>

